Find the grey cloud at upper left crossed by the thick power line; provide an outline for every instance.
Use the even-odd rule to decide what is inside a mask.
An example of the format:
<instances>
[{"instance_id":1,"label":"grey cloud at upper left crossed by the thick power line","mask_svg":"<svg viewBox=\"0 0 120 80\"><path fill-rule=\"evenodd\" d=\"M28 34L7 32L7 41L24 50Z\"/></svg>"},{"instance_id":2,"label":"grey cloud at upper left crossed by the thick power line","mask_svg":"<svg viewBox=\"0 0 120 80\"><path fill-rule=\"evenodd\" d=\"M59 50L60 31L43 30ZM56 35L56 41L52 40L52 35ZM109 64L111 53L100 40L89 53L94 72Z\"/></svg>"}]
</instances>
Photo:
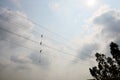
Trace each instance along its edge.
<instances>
[{"instance_id":1,"label":"grey cloud at upper left crossed by the thick power line","mask_svg":"<svg viewBox=\"0 0 120 80\"><path fill-rule=\"evenodd\" d=\"M20 12L12 12L6 8L0 8L0 27L12 31L14 33L18 33L24 36L29 36L31 34L29 31L33 27L32 23L27 19L21 17L24 16ZM22 23L22 25L21 25ZM27 26L26 26L27 25ZM25 30L25 28L27 30ZM26 42L24 39L18 38L17 36L8 33L5 30L0 29L0 39L1 40L9 40L9 41L16 41L18 43ZM29 34L28 34L29 33Z\"/></svg>"}]
</instances>

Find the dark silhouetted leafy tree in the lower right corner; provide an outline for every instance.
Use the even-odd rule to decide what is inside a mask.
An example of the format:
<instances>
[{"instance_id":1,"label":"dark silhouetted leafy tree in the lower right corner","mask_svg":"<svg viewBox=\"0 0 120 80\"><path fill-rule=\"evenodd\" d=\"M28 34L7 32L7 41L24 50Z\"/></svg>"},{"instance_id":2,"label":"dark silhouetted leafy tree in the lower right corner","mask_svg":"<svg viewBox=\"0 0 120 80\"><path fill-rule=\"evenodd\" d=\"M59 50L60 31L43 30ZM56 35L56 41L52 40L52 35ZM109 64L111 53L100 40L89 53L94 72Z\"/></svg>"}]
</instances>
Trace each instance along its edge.
<instances>
[{"instance_id":1,"label":"dark silhouetted leafy tree in the lower right corner","mask_svg":"<svg viewBox=\"0 0 120 80\"><path fill-rule=\"evenodd\" d=\"M96 53L97 66L89 68L91 75L96 80L120 80L120 50L119 46L111 42L111 57L101 53Z\"/></svg>"}]
</instances>

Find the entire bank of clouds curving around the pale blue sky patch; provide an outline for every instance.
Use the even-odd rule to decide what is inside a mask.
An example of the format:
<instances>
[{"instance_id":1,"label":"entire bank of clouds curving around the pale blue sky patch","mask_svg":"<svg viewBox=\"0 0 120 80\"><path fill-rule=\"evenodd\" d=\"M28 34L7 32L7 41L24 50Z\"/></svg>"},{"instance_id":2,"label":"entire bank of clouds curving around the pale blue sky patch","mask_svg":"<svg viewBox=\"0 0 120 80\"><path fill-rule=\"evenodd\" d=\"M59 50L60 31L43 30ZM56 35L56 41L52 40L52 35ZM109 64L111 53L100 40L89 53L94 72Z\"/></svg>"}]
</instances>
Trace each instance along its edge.
<instances>
[{"instance_id":1,"label":"entire bank of clouds curving around the pale blue sky patch","mask_svg":"<svg viewBox=\"0 0 120 80\"><path fill-rule=\"evenodd\" d=\"M30 39L40 40L32 32L35 25L28 20L24 13L6 8L0 8L0 11L0 25L2 28L21 34ZM104 6L88 20L90 25L85 27L85 30L89 31L88 35L82 38L83 42L80 38L79 42L81 43L77 46L77 49L79 49L76 51L78 54L73 54L79 57L79 60L69 54L63 54L48 48L43 48L44 51L40 54L39 44L37 46L31 41L0 30L0 79L79 80L89 78L88 68L94 63L94 53L103 49L106 50L106 46L104 45L109 45L106 41L110 42L113 40L120 44L119 15L119 10L113 10ZM24 45L31 48L31 50L13 43ZM70 54L72 53L63 45L52 44L50 41L48 41L47 44L54 48L58 47L57 49L66 51ZM74 64L72 61L77 62L74 62L76 63Z\"/></svg>"}]
</instances>

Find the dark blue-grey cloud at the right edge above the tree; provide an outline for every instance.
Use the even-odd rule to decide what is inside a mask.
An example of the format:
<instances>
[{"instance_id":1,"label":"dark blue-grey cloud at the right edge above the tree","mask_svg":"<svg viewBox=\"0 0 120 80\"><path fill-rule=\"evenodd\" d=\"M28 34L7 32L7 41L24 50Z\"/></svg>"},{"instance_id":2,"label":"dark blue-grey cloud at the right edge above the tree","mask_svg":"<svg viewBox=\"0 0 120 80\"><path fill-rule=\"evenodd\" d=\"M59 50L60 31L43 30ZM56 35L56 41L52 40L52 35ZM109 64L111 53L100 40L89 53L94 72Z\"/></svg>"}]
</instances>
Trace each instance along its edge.
<instances>
[{"instance_id":1,"label":"dark blue-grey cloud at the right edge above the tree","mask_svg":"<svg viewBox=\"0 0 120 80\"><path fill-rule=\"evenodd\" d=\"M101 35L106 38L119 39L120 36L120 11L109 10L93 20L94 24L102 27Z\"/></svg>"}]
</instances>

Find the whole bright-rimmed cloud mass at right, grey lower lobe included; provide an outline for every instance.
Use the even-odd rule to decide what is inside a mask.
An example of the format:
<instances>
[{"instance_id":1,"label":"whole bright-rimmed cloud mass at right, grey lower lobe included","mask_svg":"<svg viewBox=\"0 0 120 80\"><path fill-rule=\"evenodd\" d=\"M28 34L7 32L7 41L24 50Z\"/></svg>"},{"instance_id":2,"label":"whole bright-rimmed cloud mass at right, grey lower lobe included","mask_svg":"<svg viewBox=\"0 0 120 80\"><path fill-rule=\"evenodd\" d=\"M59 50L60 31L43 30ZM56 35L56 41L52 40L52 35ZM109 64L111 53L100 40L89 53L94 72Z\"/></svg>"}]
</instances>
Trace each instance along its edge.
<instances>
[{"instance_id":1,"label":"whole bright-rimmed cloud mass at right, grey lower lobe included","mask_svg":"<svg viewBox=\"0 0 120 80\"><path fill-rule=\"evenodd\" d=\"M110 9L108 6L102 6L95 14L88 19L87 29L91 29L93 32L88 34L89 37L92 36L89 43L83 45L78 55L81 59L90 58L93 56L93 51L102 52L107 55L109 53L109 44L114 41L120 45L120 11L116 9ZM93 44L94 43L94 44ZM88 51L87 51L88 50ZM98 51L97 51L98 50ZM94 52L95 54L95 52ZM93 57L92 57L93 58Z\"/></svg>"}]
</instances>

